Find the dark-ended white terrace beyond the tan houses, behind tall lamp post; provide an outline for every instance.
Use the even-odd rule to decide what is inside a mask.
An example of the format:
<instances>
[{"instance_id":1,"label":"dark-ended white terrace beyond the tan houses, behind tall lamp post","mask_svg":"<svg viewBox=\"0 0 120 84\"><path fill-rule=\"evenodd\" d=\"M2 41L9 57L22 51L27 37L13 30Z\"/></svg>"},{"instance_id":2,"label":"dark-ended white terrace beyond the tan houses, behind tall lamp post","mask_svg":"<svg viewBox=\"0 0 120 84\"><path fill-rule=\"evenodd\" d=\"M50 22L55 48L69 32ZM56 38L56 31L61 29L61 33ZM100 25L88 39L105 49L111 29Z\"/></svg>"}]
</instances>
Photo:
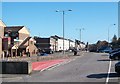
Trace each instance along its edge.
<instances>
[{"instance_id":1,"label":"dark-ended white terrace beyond the tan houses, behind tall lamp post","mask_svg":"<svg viewBox=\"0 0 120 84\"><path fill-rule=\"evenodd\" d=\"M49 38L35 37L36 46L39 49L51 49L52 51L63 51L63 38L57 35ZM75 42L70 39L64 39L64 50L73 49Z\"/></svg>"}]
</instances>

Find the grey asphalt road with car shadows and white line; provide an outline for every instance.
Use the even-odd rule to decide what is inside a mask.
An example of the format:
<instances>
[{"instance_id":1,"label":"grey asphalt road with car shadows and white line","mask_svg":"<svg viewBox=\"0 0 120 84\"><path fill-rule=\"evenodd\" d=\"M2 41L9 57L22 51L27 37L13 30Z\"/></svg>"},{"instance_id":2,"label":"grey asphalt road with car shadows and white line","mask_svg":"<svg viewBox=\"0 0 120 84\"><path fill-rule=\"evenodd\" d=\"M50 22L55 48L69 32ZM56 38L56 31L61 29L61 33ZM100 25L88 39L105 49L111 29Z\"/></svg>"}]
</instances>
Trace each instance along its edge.
<instances>
[{"instance_id":1,"label":"grey asphalt road with car shadows and white line","mask_svg":"<svg viewBox=\"0 0 120 84\"><path fill-rule=\"evenodd\" d=\"M45 71L33 72L31 75L10 75L3 82L109 82L120 81L115 73L114 65L118 61L110 61L106 53L82 52L69 62L49 68ZM10 78L9 78L10 77Z\"/></svg>"}]
</instances>

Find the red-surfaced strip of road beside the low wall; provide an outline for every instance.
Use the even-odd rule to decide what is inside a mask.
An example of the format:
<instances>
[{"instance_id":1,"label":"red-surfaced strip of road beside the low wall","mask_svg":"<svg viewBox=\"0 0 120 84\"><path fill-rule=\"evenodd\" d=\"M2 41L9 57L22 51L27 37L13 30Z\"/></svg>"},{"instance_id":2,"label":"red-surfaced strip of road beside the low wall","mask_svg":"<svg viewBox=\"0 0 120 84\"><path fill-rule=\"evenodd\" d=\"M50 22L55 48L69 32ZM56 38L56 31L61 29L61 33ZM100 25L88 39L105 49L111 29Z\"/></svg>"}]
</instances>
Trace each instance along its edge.
<instances>
[{"instance_id":1,"label":"red-surfaced strip of road beside the low wall","mask_svg":"<svg viewBox=\"0 0 120 84\"><path fill-rule=\"evenodd\" d=\"M33 62L32 63L32 70L44 70L49 67L52 67L56 64L62 63L67 61L68 59L59 59L59 60L49 60L49 61L42 61L42 62Z\"/></svg>"}]
</instances>

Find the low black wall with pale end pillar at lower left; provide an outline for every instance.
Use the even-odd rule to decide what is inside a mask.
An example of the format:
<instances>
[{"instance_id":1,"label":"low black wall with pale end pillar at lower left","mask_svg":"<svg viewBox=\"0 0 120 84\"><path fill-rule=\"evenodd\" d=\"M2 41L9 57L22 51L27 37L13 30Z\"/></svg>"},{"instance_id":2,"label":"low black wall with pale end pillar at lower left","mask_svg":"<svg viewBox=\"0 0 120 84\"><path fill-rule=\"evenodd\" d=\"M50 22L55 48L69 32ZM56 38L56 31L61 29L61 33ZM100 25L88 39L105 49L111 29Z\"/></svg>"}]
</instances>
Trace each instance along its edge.
<instances>
[{"instance_id":1,"label":"low black wall with pale end pillar at lower left","mask_svg":"<svg viewBox=\"0 0 120 84\"><path fill-rule=\"evenodd\" d=\"M30 74L32 66L27 61L3 61L0 62L2 71L0 74Z\"/></svg>"}]
</instances>

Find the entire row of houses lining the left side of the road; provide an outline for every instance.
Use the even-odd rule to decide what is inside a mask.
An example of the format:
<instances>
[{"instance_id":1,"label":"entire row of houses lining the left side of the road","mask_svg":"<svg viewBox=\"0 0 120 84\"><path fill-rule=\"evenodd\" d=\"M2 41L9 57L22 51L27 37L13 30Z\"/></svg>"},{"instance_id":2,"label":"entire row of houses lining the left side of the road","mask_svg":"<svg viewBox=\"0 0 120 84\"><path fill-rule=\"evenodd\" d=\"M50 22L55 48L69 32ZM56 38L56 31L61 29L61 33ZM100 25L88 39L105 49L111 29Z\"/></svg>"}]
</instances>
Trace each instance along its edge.
<instances>
[{"instance_id":1,"label":"entire row of houses lining the left side of the road","mask_svg":"<svg viewBox=\"0 0 120 84\"><path fill-rule=\"evenodd\" d=\"M26 56L29 52L30 56L36 56L38 49L50 48L53 51L67 51L74 47L84 48L84 43L78 43L70 39L65 39L57 35L48 38L30 36L29 30L25 26L6 26L0 20L0 56Z\"/></svg>"}]
</instances>

